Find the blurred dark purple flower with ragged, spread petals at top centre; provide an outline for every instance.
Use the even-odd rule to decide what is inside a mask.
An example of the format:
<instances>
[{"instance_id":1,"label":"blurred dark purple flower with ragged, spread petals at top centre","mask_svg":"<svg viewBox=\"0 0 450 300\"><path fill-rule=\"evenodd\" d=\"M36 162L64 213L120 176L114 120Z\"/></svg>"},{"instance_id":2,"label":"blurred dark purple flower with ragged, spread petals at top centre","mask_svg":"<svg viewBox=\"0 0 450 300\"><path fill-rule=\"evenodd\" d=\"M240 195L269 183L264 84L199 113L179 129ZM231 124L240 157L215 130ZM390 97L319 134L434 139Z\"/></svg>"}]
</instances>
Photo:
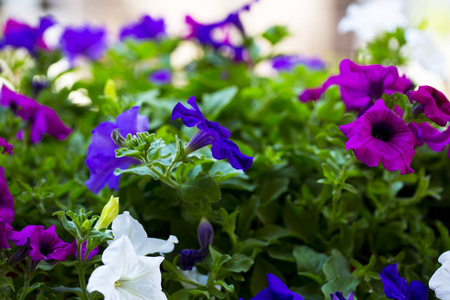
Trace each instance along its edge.
<instances>
[{"instance_id":1,"label":"blurred dark purple flower with ragged, spread petals at top centre","mask_svg":"<svg viewBox=\"0 0 450 300\"><path fill-rule=\"evenodd\" d=\"M195 38L205 46L211 46L218 50L222 49L225 52L231 52L234 61L240 62L246 60L247 51L242 45L236 45L231 41L231 29L234 27L240 33L241 37L245 37L244 26L239 18L242 11L250 10L250 5L258 0L253 0L251 3L244 5L242 8L230 13L224 20L201 24L195 21L191 16L186 16L186 24L190 28L190 33L186 36L187 39ZM214 35L216 31L222 31L223 38L217 39Z\"/></svg>"}]
</instances>

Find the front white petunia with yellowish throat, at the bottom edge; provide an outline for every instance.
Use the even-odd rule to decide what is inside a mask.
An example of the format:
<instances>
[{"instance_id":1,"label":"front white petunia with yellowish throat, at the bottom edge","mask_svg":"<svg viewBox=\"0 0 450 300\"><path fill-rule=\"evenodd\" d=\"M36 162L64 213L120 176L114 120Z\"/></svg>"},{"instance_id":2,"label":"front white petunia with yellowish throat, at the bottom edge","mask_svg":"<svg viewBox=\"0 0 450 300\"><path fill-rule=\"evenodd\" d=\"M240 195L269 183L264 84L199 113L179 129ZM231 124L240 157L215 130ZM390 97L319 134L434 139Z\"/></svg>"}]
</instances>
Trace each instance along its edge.
<instances>
[{"instance_id":1,"label":"front white petunia with yellowish throat, at the bottom edge","mask_svg":"<svg viewBox=\"0 0 450 300\"><path fill-rule=\"evenodd\" d=\"M105 300L167 299L159 270L163 260L164 257L137 255L130 240L123 236L103 252L104 265L92 272L87 290L100 292Z\"/></svg>"}]
</instances>

